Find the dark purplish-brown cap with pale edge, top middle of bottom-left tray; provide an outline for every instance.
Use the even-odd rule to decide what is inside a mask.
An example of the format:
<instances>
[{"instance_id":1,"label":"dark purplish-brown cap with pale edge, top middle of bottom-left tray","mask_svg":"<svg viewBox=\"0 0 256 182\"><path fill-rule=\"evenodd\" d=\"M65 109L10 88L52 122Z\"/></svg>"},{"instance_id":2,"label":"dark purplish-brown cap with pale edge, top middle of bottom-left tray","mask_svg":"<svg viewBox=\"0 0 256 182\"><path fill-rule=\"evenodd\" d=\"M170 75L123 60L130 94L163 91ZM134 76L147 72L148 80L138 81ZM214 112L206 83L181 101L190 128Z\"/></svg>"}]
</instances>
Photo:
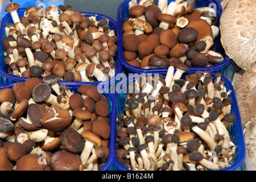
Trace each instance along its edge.
<instances>
[{"instance_id":1,"label":"dark purplish-brown cap with pale edge, top middle of bottom-left tray","mask_svg":"<svg viewBox=\"0 0 256 182\"><path fill-rule=\"evenodd\" d=\"M48 84L38 84L35 86L32 97L35 102L43 102L51 95L51 87Z\"/></svg>"}]
</instances>

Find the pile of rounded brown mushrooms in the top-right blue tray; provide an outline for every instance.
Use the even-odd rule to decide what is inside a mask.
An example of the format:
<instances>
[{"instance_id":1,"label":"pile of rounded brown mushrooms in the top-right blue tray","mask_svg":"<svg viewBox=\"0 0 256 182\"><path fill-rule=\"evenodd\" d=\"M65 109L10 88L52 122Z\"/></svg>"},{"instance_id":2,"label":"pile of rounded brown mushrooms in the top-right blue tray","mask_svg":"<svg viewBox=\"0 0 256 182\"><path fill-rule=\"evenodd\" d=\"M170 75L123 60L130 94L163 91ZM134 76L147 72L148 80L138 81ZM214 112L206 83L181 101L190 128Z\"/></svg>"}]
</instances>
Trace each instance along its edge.
<instances>
[{"instance_id":1,"label":"pile of rounded brown mushrooms in the top-right blue tray","mask_svg":"<svg viewBox=\"0 0 256 182\"><path fill-rule=\"evenodd\" d=\"M136 0L129 2L129 17L122 24L123 57L143 69L211 67L224 57L213 51L219 33L216 11L195 9L195 1Z\"/></svg>"}]
</instances>

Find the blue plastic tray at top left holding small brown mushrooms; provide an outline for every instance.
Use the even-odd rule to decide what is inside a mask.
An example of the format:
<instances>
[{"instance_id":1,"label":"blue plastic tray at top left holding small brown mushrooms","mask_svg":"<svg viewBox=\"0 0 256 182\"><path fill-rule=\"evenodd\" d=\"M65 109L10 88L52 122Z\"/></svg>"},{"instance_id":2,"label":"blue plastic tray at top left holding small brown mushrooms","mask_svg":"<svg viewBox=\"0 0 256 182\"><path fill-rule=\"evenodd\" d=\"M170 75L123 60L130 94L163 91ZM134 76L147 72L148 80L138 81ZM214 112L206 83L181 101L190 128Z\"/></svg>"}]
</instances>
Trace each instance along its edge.
<instances>
[{"instance_id":1,"label":"blue plastic tray at top left holding small brown mushrooms","mask_svg":"<svg viewBox=\"0 0 256 182\"><path fill-rule=\"evenodd\" d=\"M18 9L18 15L21 17L24 14L24 11L26 10L26 8L22 8L22 9ZM96 16L97 20L100 20L101 18L108 18L109 19L109 26L112 30L115 31L115 35L117 35L117 23L112 19L109 18L108 16L102 15L102 14L93 14L93 13L84 13L84 12L80 12L82 14L84 14L86 17L88 16ZM11 15L10 13L6 14L4 16L4 18L2 19L1 22L1 28L0 28L0 40L2 43L2 40L6 38L6 34L5 34L5 26L7 23L13 23L13 19L11 19ZM2 35L2 36L1 36ZM118 35L117 35L118 36ZM118 42L116 42L117 46L118 46ZM24 82L27 78L24 77L18 77L15 75L11 75L7 72L7 68L8 65L6 65L3 60L5 59L5 56L3 55L4 49L1 46L0 48L0 74L6 78L6 82L5 83L12 83L12 82L16 82L16 81L20 81L20 82ZM122 65L119 64L119 56L118 56L118 51L115 55L115 76L118 73L122 72ZM110 85L115 81L115 76L113 76L112 78L110 78L109 80L106 81L102 81L102 84L104 85ZM70 84L71 82L75 82L75 81L63 81L64 83ZM97 84L99 84L101 81L98 81ZM89 82L76 82L77 84L86 84Z\"/></svg>"}]
</instances>

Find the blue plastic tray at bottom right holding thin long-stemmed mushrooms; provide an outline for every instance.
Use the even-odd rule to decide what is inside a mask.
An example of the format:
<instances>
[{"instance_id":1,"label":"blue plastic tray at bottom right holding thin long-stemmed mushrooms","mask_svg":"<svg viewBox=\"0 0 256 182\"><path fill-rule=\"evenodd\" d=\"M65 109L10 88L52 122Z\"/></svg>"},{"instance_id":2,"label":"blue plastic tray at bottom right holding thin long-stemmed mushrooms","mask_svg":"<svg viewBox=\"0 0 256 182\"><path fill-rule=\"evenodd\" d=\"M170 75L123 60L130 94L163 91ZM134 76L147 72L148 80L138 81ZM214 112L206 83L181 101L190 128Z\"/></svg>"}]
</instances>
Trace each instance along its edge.
<instances>
[{"instance_id":1,"label":"blue plastic tray at bottom right holding thin long-stemmed mushrooms","mask_svg":"<svg viewBox=\"0 0 256 182\"><path fill-rule=\"evenodd\" d=\"M181 78L185 79L185 75L187 75L188 73L184 73L183 76ZM147 75L147 74L144 74ZM212 75L215 79L215 75L216 72L210 72L210 75ZM138 75L137 75L138 76ZM122 92L122 88L120 85L129 85L132 82L135 81L135 78L137 76L127 76L126 79L123 79L122 81L120 81L118 83L118 87L116 89L116 94L115 94L115 100L117 101L117 114L122 113L123 108L125 107L125 99L127 94ZM165 77L166 75L163 74L163 76ZM232 140L232 142L236 145L236 155L237 158L234 159L234 163L232 166L225 168L225 169L221 169L221 171L241 171L242 167L243 167L243 162L245 161L245 157L246 157L246 149L245 149L245 141L243 138L243 129L242 129L242 123L241 123L241 117L240 117L240 111L238 109L238 105L237 105L237 99L236 99L236 94L234 92L234 88L232 86L232 84L230 83L230 81L225 78L224 76L221 77L221 80L225 81L224 86L226 86L226 90L232 90L232 93L228 96L231 97L233 100L233 105L231 107L231 111L230 113L234 113L236 114L237 117L237 122L233 123L230 126L230 140ZM121 89L118 89L121 88ZM116 140L115 140L116 142ZM115 157L114 157L114 164L115 166L120 170L120 171L127 171L129 169L127 169L126 167L122 166L121 163L119 163L118 159L117 159L117 155L115 152Z\"/></svg>"}]
</instances>

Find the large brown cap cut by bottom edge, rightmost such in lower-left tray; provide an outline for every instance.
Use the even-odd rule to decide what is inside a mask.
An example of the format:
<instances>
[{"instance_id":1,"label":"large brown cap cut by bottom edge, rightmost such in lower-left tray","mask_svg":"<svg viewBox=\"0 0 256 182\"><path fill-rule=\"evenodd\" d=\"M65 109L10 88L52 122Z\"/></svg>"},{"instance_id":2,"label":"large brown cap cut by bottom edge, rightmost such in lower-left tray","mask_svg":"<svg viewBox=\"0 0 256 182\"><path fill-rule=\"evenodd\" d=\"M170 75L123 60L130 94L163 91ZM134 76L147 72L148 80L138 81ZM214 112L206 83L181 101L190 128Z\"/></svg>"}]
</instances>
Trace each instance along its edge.
<instances>
[{"instance_id":1,"label":"large brown cap cut by bottom edge, rightmost such in lower-left tray","mask_svg":"<svg viewBox=\"0 0 256 182\"><path fill-rule=\"evenodd\" d=\"M50 160L53 171L79 171L81 158L78 154L73 154L67 150L55 152Z\"/></svg>"}]
</instances>

